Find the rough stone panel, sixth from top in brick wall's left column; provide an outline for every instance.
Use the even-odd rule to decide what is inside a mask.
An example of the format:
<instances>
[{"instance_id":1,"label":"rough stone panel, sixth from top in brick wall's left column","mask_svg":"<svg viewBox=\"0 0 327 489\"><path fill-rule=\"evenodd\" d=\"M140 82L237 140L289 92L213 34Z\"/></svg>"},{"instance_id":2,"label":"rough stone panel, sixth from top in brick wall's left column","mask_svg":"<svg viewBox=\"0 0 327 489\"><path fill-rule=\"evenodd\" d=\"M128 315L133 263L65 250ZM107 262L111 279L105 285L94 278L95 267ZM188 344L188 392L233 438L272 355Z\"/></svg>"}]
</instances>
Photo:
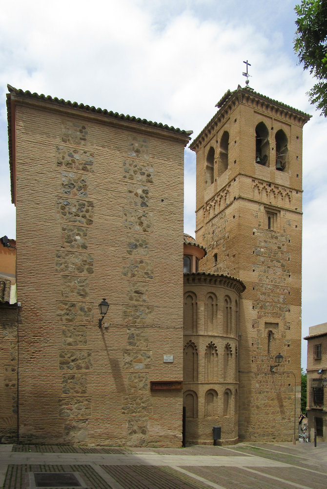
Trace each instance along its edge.
<instances>
[{"instance_id":1,"label":"rough stone panel, sixth from top in brick wall's left column","mask_svg":"<svg viewBox=\"0 0 327 489\"><path fill-rule=\"evenodd\" d=\"M94 272L93 255L78 251L57 251L55 270L60 273L92 275Z\"/></svg>"}]
</instances>

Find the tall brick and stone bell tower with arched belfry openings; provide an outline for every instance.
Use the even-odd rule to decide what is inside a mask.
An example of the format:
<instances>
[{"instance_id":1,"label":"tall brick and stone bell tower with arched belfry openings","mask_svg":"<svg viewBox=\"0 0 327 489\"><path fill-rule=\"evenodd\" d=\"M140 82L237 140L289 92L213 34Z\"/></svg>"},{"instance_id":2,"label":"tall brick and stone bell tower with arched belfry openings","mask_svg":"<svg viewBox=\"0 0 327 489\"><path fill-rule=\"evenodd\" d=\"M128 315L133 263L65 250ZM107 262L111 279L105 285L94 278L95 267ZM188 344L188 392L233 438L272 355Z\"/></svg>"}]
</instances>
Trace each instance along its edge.
<instances>
[{"instance_id":1,"label":"tall brick and stone bell tower with arched belfry openings","mask_svg":"<svg viewBox=\"0 0 327 489\"><path fill-rule=\"evenodd\" d=\"M248 86L228 90L216 107L190 146L196 240L207 251L199 269L246 286L239 440L290 441L301 400L302 130L310 116Z\"/></svg>"}]
</instances>

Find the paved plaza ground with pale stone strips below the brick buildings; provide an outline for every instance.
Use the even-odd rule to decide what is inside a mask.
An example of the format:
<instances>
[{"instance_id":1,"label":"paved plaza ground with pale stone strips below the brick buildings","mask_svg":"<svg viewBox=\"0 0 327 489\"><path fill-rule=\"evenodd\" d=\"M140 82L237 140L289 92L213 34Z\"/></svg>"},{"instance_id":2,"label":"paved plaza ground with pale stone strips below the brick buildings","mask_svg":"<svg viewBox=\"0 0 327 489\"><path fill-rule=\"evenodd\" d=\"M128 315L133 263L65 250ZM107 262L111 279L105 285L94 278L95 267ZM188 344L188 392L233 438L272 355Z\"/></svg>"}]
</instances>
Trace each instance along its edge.
<instances>
[{"instance_id":1,"label":"paved plaza ground with pale stone strips below the brick buildings","mask_svg":"<svg viewBox=\"0 0 327 489\"><path fill-rule=\"evenodd\" d=\"M0 445L3 489L326 489L326 476L327 443L187 448ZM64 477L70 478L69 486Z\"/></svg>"}]
</instances>

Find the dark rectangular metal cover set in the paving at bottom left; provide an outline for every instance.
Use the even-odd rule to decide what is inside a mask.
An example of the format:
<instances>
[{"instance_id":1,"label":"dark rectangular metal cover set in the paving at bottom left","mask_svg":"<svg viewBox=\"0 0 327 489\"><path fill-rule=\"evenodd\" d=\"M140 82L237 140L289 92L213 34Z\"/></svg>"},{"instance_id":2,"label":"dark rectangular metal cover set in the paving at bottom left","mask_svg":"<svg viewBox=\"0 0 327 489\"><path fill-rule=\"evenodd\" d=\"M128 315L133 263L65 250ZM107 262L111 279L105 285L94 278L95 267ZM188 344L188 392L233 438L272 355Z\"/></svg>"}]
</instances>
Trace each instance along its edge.
<instances>
[{"instance_id":1,"label":"dark rectangular metal cover set in the paving at bottom left","mask_svg":"<svg viewBox=\"0 0 327 489\"><path fill-rule=\"evenodd\" d=\"M31 489L86 488L79 472L29 472Z\"/></svg>"}]
</instances>

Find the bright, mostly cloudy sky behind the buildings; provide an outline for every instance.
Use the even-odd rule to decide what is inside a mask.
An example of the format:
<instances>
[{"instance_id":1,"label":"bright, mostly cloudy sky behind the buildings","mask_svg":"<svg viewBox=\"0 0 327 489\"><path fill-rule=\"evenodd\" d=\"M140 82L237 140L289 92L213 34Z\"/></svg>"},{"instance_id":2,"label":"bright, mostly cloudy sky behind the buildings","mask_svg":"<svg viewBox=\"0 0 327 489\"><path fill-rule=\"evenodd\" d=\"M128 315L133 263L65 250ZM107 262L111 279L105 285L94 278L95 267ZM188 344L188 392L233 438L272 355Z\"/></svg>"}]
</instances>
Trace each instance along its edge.
<instances>
[{"instance_id":1,"label":"bright, mostly cloudy sky behind the buildings","mask_svg":"<svg viewBox=\"0 0 327 489\"><path fill-rule=\"evenodd\" d=\"M291 0L15 1L0 15L0 236L15 238L7 84L192 130L227 89L250 87L312 114L303 131L303 334L327 322L327 120L293 52ZM185 150L184 231L195 235L195 154ZM302 364L306 367L307 342Z\"/></svg>"}]
</instances>

